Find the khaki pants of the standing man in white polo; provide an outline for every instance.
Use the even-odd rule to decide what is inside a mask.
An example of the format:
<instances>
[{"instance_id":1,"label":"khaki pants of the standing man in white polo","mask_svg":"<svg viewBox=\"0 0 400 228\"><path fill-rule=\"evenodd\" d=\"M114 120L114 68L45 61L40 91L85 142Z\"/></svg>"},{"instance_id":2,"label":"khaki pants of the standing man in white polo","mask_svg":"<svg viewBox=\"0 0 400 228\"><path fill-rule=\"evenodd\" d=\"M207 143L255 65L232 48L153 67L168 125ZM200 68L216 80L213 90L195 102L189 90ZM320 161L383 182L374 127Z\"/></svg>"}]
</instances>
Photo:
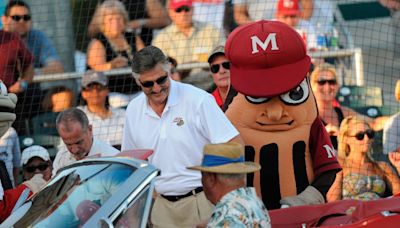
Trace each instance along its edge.
<instances>
[{"instance_id":1,"label":"khaki pants of the standing man in white polo","mask_svg":"<svg viewBox=\"0 0 400 228\"><path fill-rule=\"evenodd\" d=\"M176 202L168 201L158 195L151 211L151 223L154 228L193 228L196 224L210 218L213 207L204 192Z\"/></svg>"}]
</instances>

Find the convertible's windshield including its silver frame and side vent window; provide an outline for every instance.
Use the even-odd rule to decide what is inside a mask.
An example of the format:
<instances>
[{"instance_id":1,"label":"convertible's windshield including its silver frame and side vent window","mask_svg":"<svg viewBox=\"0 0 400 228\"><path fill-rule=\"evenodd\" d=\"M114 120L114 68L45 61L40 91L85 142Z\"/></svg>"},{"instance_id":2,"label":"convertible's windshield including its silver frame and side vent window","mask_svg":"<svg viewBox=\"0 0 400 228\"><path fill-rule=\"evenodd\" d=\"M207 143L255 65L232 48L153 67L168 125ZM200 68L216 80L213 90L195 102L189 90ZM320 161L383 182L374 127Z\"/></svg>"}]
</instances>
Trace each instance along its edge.
<instances>
[{"instance_id":1,"label":"convertible's windshield including its silver frame and side vent window","mask_svg":"<svg viewBox=\"0 0 400 228\"><path fill-rule=\"evenodd\" d=\"M0 227L146 227L158 174L125 156L75 162L29 199L22 194Z\"/></svg>"}]
</instances>

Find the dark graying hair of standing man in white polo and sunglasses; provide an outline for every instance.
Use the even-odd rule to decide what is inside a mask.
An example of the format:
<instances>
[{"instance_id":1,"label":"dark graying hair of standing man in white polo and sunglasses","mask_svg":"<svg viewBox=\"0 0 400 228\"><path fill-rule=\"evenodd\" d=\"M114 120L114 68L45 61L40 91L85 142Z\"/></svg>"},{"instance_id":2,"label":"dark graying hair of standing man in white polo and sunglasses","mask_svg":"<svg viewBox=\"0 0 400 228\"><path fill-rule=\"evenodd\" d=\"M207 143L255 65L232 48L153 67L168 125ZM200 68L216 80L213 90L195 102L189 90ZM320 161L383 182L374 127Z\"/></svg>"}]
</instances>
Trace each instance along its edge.
<instances>
[{"instance_id":1,"label":"dark graying hair of standing man in white polo and sunglasses","mask_svg":"<svg viewBox=\"0 0 400 228\"><path fill-rule=\"evenodd\" d=\"M170 64L167 56L159 48L147 46L133 56L132 75L138 79L140 74L154 69L157 64L161 64L162 68L169 73Z\"/></svg>"}]
</instances>

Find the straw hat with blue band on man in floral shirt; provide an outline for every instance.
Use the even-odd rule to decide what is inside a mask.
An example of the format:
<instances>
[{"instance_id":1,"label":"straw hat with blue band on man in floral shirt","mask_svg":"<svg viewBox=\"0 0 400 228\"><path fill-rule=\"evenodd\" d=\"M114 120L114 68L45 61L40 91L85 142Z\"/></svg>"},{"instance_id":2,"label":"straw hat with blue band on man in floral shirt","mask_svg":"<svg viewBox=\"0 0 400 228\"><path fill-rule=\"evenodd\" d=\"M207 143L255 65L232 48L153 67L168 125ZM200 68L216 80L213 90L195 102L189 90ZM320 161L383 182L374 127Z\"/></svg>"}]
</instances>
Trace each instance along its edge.
<instances>
[{"instance_id":1,"label":"straw hat with blue band on man in floral shirt","mask_svg":"<svg viewBox=\"0 0 400 228\"><path fill-rule=\"evenodd\" d=\"M207 144L203 152L201 165L188 169L222 174L253 173L261 169L259 164L244 161L244 148L239 143Z\"/></svg>"}]
</instances>

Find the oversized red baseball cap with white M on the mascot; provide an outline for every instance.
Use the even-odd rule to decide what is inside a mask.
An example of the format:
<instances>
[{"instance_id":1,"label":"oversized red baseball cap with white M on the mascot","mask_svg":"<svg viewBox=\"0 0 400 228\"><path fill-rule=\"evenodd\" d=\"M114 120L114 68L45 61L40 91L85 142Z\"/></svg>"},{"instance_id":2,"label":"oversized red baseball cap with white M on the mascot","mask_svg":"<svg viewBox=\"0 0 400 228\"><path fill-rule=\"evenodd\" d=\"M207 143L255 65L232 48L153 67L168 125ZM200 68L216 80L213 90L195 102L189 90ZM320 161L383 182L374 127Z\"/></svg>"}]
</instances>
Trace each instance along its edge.
<instances>
[{"instance_id":1,"label":"oversized red baseball cap with white M on the mascot","mask_svg":"<svg viewBox=\"0 0 400 228\"><path fill-rule=\"evenodd\" d=\"M225 44L233 87L249 96L272 97L295 88L311 59L301 36L279 21L258 21L234 30Z\"/></svg>"}]
</instances>

